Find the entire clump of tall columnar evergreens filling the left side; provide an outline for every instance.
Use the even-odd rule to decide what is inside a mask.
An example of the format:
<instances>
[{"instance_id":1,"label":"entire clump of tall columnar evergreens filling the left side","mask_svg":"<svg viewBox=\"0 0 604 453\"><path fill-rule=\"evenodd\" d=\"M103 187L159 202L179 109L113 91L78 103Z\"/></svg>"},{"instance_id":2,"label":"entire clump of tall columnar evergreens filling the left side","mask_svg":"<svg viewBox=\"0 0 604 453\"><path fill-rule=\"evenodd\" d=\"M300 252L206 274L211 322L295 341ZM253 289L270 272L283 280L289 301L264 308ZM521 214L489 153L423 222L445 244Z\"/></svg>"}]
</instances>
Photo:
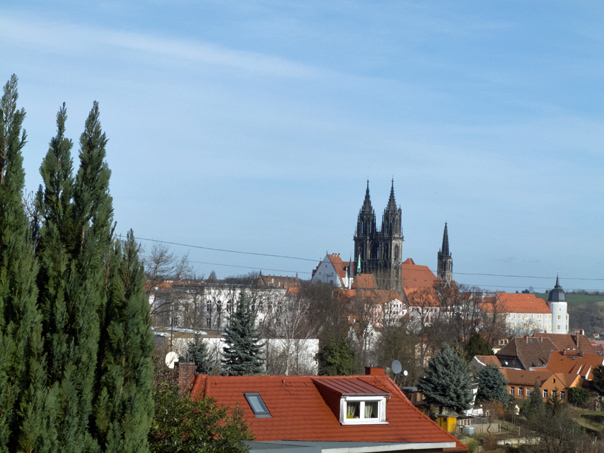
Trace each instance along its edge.
<instances>
[{"instance_id":1,"label":"entire clump of tall columnar evergreens filling the left side","mask_svg":"<svg viewBox=\"0 0 604 453\"><path fill-rule=\"evenodd\" d=\"M98 105L75 177L59 110L30 224L16 99L13 76L0 137L0 451L147 451L149 309L138 246L114 239Z\"/></svg>"}]
</instances>

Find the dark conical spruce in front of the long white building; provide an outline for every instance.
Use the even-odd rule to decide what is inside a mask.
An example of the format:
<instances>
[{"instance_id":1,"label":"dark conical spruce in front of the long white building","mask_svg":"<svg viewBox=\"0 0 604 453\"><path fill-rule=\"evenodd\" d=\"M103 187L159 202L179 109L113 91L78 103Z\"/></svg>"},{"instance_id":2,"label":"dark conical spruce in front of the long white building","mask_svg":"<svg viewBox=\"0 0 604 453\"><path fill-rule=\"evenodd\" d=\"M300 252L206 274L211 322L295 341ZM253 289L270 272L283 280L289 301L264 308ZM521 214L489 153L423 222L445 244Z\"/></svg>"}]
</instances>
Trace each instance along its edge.
<instances>
[{"instance_id":1,"label":"dark conical spruce in front of the long white building","mask_svg":"<svg viewBox=\"0 0 604 453\"><path fill-rule=\"evenodd\" d=\"M222 352L222 364L229 376L259 374L264 369L264 343L260 342L255 321L256 312L242 292L236 310L229 316L229 327L224 337L226 346Z\"/></svg>"}]
</instances>

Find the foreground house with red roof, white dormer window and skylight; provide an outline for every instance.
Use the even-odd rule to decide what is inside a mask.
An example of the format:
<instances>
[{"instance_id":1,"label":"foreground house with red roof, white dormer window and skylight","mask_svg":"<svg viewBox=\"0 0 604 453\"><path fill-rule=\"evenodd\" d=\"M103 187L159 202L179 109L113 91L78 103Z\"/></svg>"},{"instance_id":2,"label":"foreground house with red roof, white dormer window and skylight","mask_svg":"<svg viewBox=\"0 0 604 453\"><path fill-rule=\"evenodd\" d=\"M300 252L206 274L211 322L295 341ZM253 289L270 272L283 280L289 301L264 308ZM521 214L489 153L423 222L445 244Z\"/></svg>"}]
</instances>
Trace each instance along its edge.
<instances>
[{"instance_id":1,"label":"foreground house with red roof, white dormer window and skylight","mask_svg":"<svg viewBox=\"0 0 604 453\"><path fill-rule=\"evenodd\" d=\"M255 442L251 451L313 446L316 452L468 451L370 368L362 376L207 376L191 397L239 407ZM289 451L289 450L288 450ZM301 450L302 451L302 450Z\"/></svg>"}]
</instances>

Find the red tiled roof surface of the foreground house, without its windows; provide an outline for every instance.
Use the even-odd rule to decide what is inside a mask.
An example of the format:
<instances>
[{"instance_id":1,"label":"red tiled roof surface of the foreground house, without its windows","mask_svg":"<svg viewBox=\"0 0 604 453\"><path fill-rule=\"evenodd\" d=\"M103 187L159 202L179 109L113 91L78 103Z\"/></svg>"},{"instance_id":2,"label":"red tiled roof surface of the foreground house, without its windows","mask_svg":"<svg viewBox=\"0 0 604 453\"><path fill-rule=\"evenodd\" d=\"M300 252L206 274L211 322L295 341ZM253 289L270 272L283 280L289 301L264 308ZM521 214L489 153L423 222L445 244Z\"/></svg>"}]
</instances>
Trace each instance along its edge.
<instances>
[{"instance_id":1,"label":"red tiled roof surface of the foreground house, without its windows","mask_svg":"<svg viewBox=\"0 0 604 453\"><path fill-rule=\"evenodd\" d=\"M319 387L343 393L382 392L388 424L342 425ZM271 417L256 418L244 393L257 392ZM388 376L206 376L197 375L192 398L209 396L219 404L243 409L257 441L455 442L467 447L430 420Z\"/></svg>"}]
</instances>

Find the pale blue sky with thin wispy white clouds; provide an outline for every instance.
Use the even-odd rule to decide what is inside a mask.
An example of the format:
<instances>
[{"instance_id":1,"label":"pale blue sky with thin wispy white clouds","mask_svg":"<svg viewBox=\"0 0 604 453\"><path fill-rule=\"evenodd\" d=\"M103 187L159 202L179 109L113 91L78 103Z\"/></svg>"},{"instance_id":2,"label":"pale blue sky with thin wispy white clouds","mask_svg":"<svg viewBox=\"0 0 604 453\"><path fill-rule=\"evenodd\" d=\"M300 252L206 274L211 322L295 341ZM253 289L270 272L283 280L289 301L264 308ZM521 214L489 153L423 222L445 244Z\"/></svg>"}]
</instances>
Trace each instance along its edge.
<instances>
[{"instance_id":1,"label":"pale blue sky with thin wispy white clouds","mask_svg":"<svg viewBox=\"0 0 604 453\"><path fill-rule=\"evenodd\" d=\"M0 78L30 190L59 106L77 142L99 101L121 233L346 259L366 180L380 221L394 178L403 258L435 269L448 222L461 283L604 290L603 23L595 1L8 1Z\"/></svg>"}]
</instances>

